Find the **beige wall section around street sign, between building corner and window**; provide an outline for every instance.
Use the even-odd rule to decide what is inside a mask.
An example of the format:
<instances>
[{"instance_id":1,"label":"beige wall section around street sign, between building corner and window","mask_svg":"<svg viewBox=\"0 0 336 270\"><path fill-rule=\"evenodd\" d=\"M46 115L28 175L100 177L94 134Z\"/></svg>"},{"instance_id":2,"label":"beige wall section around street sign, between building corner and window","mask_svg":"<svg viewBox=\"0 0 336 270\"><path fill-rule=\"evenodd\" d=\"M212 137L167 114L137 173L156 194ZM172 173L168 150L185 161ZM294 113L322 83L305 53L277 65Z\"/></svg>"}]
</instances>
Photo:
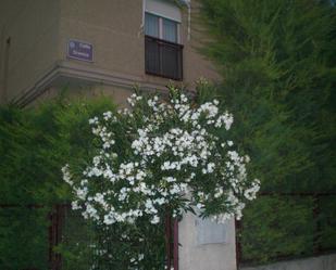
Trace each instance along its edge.
<instances>
[{"instance_id":1,"label":"beige wall section around street sign, between building corner and window","mask_svg":"<svg viewBox=\"0 0 336 270\"><path fill-rule=\"evenodd\" d=\"M94 44L94 63L80 62L83 65L127 75L140 75L145 53L144 44L138 37L141 1L99 0L98 2L61 0L59 59L66 60L67 40L78 39Z\"/></svg>"}]
</instances>

